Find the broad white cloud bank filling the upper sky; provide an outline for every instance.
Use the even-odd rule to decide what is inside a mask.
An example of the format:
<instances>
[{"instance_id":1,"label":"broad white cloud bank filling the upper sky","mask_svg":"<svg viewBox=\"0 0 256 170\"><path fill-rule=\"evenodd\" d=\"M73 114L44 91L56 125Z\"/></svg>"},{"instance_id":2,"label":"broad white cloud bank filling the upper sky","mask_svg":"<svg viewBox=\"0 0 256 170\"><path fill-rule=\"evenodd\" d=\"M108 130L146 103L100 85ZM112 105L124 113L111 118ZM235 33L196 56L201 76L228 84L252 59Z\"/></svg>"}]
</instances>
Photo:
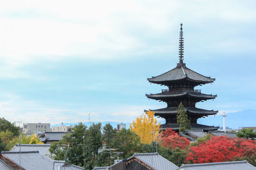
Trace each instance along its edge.
<instances>
[{"instance_id":1,"label":"broad white cloud bank filling the upper sky","mask_svg":"<svg viewBox=\"0 0 256 170\"><path fill-rule=\"evenodd\" d=\"M250 4L239 1L4 1L0 59L19 66L38 58L116 59L152 49L169 52L176 45L159 46L140 35L169 39L166 34L177 31L179 22L198 25L200 30L208 20L252 22L255 16Z\"/></svg>"}]
</instances>

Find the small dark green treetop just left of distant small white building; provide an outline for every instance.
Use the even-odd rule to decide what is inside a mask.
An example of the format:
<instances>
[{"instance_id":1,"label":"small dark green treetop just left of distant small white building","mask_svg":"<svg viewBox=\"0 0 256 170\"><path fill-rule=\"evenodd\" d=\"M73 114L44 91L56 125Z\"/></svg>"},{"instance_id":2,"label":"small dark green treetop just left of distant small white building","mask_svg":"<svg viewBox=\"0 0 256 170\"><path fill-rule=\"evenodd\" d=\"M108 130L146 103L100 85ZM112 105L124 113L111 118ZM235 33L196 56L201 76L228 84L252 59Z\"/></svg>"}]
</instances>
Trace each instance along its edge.
<instances>
[{"instance_id":1,"label":"small dark green treetop just left of distant small white building","mask_svg":"<svg viewBox=\"0 0 256 170\"><path fill-rule=\"evenodd\" d=\"M116 134L117 134L117 131L116 129L113 129L113 126L111 124L104 125L102 140L104 141L104 143L106 143L106 146L111 145Z\"/></svg>"}]
</instances>

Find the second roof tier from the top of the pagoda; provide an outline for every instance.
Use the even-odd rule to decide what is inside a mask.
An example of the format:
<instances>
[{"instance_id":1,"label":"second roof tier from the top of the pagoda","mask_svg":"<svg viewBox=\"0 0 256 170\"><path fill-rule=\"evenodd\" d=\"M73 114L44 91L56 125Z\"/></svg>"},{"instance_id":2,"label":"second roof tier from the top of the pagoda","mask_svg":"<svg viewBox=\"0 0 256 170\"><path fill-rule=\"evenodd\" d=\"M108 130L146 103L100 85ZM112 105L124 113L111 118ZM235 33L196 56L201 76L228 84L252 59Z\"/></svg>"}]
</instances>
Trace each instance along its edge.
<instances>
[{"instance_id":1,"label":"second roof tier from the top of the pagoda","mask_svg":"<svg viewBox=\"0 0 256 170\"><path fill-rule=\"evenodd\" d=\"M150 99L156 99L161 101L166 101L170 98L189 96L193 98L200 98L202 100L215 99L217 95L212 94L202 94L200 92L162 92L159 94L146 94Z\"/></svg>"}]
</instances>

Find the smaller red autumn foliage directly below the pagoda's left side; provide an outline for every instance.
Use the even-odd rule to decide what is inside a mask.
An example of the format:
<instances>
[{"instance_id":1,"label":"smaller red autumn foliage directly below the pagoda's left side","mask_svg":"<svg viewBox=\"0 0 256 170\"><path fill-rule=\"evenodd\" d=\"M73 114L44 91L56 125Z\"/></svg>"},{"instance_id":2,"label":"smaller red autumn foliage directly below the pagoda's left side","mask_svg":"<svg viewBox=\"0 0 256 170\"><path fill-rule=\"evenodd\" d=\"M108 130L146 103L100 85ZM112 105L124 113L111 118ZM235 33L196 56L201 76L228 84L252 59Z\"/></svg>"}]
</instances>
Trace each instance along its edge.
<instances>
[{"instance_id":1,"label":"smaller red autumn foliage directly below the pagoda's left side","mask_svg":"<svg viewBox=\"0 0 256 170\"><path fill-rule=\"evenodd\" d=\"M184 150L185 148L188 148L190 144L188 139L180 137L177 133L170 135L167 138L161 138L161 143L165 148L171 146L172 150L174 148L180 148Z\"/></svg>"}]
</instances>

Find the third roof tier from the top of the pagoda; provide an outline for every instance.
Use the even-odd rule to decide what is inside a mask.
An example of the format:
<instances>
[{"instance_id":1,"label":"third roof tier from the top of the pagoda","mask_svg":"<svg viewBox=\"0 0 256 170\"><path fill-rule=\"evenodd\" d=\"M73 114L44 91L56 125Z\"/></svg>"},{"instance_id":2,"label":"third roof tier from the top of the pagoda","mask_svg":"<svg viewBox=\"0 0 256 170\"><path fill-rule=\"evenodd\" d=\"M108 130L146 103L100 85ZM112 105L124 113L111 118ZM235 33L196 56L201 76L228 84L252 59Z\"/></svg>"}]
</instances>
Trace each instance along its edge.
<instances>
[{"instance_id":1,"label":"third roof tier from the top of the pagoda","mask_svg":"<svg viewBox=\"0 0 256 170\"><path fill-rule=\"evenodd\" d=\"M184 107L184 109L189 113L194 113L198 115L216 115L216 113L218 113L218 111L214 111L214 110L203 110L200 108L192 108L192 107ZM164 115L167 116L167 115L177 115L177 110L178 110L178 107L170 107L170 108L162 108L162 109L151 110L151 111L154 111L156 116L164 116Z\"/></svg>"}]
</instances>

